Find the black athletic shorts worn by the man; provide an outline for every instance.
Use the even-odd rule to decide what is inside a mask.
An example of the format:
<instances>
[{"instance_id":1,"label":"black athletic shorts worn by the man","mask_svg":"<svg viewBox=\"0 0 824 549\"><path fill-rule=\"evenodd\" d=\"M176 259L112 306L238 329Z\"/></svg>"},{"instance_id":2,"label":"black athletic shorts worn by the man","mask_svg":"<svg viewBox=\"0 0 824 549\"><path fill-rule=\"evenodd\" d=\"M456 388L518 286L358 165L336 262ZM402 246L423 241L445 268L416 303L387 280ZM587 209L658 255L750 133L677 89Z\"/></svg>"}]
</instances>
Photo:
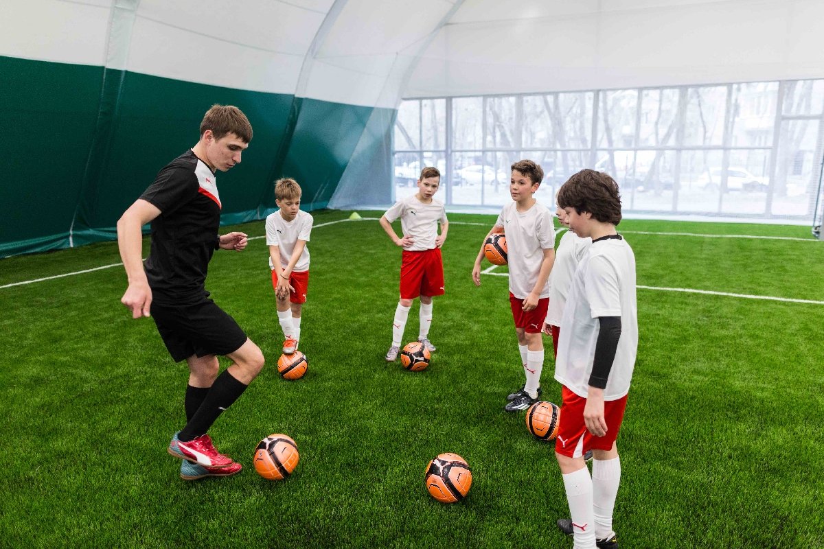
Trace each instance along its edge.
<instances>
[{"instance_id":1,"label":"black athletic shorts worn by the man","mask_svg":"<svg viewBox=\"0 0 824 549\"><path fill-rule=\"evenodd\" d=\"M176 362L192 355L227 355L246 342L246 333L235 319L207 298L187 305L152 301L151 313Z\"/></svg>"}]
</instances>

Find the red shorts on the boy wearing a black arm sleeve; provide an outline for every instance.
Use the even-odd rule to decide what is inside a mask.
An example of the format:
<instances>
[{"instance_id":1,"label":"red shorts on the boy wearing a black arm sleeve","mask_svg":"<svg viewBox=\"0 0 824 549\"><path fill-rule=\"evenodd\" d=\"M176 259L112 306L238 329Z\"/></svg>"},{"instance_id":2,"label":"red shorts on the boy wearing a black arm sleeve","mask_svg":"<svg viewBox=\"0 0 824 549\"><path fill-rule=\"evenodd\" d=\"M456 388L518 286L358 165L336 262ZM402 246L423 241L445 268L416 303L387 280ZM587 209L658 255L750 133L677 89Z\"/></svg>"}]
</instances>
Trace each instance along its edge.
<instances>
[{"instance_id":1,"label":"red shorts on the boy wearing a black arm sleeve","mask_svg":"<svg viewBox=\"0 0 824 549\"><path fill-rule=\"evenodd\" d=\"M624 421L626 395L618 400L604 402L606 435L595 436L587 430L583 422L583 408L587 399L579 397L565 386L561 388L564 403L561 405L561 419L555 452L568 458L580 458L588 450L610 450L618 438L621 421ZM582 441L583 437L583 441Z\"/></svg>"}]
</instances>

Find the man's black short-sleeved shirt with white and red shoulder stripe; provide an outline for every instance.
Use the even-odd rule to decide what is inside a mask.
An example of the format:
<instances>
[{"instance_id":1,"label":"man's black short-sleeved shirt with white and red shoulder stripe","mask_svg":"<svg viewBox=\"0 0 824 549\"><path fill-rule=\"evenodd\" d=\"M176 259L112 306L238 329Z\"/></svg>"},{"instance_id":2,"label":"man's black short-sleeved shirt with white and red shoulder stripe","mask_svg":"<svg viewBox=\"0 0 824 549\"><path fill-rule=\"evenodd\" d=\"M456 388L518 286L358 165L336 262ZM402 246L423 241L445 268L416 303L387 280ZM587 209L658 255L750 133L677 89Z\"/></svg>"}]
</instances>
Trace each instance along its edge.
<instances>
[{"instance_id":1,"label":"man's black short-sleeved shirt with white and red shoulder stripe","mask_svg":"<svg viewBox=\"0 0 824 549\"><path fill-rule=\"evenodd\" d=\"M204 299L221 211L212 170L190 149L160 170L140 198L161 211L152 221L152 249L144 263L152 299Z\"/></svg>"}]
</instances>

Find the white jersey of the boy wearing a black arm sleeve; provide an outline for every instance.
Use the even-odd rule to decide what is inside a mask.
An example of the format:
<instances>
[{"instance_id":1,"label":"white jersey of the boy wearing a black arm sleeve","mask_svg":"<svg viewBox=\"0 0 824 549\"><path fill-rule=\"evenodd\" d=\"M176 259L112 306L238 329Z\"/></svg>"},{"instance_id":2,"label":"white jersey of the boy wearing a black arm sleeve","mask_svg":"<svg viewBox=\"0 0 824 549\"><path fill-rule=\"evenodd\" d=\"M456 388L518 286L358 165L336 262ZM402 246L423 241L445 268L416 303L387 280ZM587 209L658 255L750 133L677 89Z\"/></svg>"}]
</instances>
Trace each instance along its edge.
<instances>
[{"instance_id":1,"label":"white jersey of the boy wearing a black arm sleeve","mask_svg":"<svg viewBox=\"0 0 824 549\"><path fill-rule=\"evenodd\" d=\"M617 400L630 390L638 351L635 255L623 239L597 240L589 246L564 307L555 379L582 398L589 389L602 316L620 316L618 349L604 389L604 400Z\"/></svg>"}]
</instances>

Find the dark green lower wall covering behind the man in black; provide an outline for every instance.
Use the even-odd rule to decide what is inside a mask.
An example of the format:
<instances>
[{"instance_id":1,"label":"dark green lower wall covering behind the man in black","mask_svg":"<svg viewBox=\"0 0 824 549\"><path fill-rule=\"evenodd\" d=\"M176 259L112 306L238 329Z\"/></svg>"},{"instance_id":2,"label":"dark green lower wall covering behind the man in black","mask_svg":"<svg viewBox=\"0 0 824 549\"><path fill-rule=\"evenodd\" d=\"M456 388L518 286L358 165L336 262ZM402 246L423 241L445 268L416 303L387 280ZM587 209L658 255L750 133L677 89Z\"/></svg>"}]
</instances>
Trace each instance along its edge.
<instances>
[{"instance_id":1,"label":"dark green lower wall covering behind the man in black","mask_svg":"<svg viewBox=\"0 0 824 549\"><path fill-rule=\"evenodd\" d=\"M218 172L222 223L263 219L283 176L301 184L302 209L326 207L375 110L2 56L0 74L16 151L0 185L0 257L115 239L119 216L194 146L215 103L254 128L241 165Z\"/></svg>"}]
</instances>

